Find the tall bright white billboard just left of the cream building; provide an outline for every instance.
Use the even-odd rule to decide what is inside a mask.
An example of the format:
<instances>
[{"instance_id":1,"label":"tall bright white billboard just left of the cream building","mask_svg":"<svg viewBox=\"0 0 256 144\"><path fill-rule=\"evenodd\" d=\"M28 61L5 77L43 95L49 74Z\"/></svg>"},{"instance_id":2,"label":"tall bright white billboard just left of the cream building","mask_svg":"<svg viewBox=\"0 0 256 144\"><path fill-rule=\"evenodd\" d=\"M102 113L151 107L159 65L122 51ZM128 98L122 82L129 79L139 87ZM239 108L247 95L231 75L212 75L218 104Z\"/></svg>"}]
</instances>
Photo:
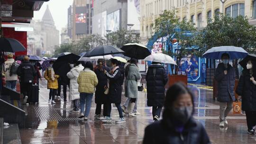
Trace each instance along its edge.
<instances>
[{"instance_id":1,"label":"tall bright white billboard just left of the cream building","mask_svg":"<svg viewBox=\"0 0 256 144\"><path fill-rule=\"evenodd\" d=\"M127 23L133 24L131 30L140 30L140 0L128 0Z\"/></svg>"}]
</instances>

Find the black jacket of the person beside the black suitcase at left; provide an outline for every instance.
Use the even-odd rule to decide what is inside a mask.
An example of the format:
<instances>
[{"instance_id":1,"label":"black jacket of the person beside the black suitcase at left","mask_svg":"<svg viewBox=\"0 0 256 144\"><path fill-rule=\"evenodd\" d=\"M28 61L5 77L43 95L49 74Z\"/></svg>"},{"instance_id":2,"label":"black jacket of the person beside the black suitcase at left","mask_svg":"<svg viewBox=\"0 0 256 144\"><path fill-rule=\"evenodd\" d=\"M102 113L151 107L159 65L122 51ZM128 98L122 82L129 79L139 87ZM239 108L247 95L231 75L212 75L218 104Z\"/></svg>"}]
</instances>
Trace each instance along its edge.
<instances>
[{"instance_id":1,"label":"black jacket of the person beside the black suitcase at left","mask_svg":"<svg viewBox=\"0 0 256 144\"><path fill-rule=\"evenodd\" d=\"M18 66L17 74L18 76L20 76L21 82L32 83L34 80L34 76L37 75L37 72L30 62L24 61Z\"/></svg>"}]
</instances>

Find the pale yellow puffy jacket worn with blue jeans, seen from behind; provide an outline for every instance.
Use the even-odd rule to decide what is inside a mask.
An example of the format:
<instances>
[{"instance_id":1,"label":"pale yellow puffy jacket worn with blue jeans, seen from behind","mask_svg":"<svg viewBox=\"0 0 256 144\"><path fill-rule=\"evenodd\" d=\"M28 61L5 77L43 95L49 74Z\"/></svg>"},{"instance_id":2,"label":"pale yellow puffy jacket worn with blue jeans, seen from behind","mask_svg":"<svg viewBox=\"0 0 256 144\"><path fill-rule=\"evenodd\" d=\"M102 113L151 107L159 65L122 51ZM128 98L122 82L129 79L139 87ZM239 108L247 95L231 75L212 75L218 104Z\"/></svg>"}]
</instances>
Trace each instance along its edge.
<instances>
[{"instance_id":1,"label":"pale yellow puffy jacket worn with blue jeans, seen from behind","mask_svg":"<svg viewBox=\"0 0 256 144\"><path fill-rule=\"evenodd\" d=\"M78 91L80 93L94 93L98 84L97 75L90 69L85 68L80 72L77 83L79 84Z\"/></svg>"}]
</instances>

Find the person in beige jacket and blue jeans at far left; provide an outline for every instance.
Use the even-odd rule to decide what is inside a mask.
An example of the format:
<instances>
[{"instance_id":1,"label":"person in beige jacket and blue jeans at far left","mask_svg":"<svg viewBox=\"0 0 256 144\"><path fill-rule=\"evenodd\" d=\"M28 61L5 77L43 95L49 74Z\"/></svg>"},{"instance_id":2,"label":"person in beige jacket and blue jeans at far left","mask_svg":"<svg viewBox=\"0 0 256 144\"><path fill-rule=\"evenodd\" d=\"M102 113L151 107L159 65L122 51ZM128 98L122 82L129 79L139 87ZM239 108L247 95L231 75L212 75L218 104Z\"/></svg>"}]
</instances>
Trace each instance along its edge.
<instances>
[{"instance_id":1,"label":"person in beige jacket and blue jeans at far left","mask_svg":"<svg viewBox=\"0 0 256 144\"><path fill-rule=\"evenodd\" d=\"M16 83L18 80L18 75L16 73L12 73L12 68L14 64L17 64L15 60L13 59L13 54L8 54L7 55L7 61L4 62L3 64L3 72L5 76L5 81L6 81L6 87L16 91Z\"/></svg>"}]
</instances>

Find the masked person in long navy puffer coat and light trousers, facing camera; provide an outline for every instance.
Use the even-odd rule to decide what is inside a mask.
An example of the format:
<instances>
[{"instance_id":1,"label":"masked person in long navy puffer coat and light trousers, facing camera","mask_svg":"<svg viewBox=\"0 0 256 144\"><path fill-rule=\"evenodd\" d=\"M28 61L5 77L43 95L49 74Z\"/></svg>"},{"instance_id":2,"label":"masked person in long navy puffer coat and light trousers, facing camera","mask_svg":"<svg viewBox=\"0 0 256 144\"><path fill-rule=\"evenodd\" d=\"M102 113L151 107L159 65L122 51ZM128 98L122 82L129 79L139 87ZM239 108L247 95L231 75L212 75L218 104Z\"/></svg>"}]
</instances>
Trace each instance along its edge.
<instances>
[{"instance_id":1,"label":"masked person in long navy puffer coat and light trousers, facing camera","mask_svg":"<svg viewBox=\"0 0 256 144\"><path fill-rule=\"evenodd\" d=\"M228 125L226 117L232 109L233 101L235 101L235 69L229 64L229 54L222 54L223 63L219 63L216 72L215 80L218 81L218 98L219 101L219 126Z\"/></svg>"}]
</instances>

